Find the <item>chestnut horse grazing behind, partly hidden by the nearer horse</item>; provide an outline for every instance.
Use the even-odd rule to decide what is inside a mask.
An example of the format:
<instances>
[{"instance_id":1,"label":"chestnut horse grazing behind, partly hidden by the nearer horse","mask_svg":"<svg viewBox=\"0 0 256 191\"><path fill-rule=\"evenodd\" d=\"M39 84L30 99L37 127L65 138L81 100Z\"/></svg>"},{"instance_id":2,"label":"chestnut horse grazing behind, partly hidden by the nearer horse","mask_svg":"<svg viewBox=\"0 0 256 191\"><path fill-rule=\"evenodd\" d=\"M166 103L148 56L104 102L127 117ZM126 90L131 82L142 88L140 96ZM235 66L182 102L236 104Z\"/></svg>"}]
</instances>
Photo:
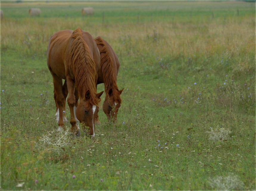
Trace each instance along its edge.
<instances>
[{"instance_id":1,"label":"chestnut horse grazing behind, partly hidden by the nearer horse","mask_svg":"<svg viewBox=\"0 0 256 191\"><path fill-rule=\"evenodd\" d=\"M94 39L100 51L100 71L98 72L97 85L105 85L105 101L103 111L108 119L117 119L117 112L121 106L122 100L120 94L122 90L117 87L117 74L120 62L112 47L100 36Z\"/></svg>"}]
</instances>

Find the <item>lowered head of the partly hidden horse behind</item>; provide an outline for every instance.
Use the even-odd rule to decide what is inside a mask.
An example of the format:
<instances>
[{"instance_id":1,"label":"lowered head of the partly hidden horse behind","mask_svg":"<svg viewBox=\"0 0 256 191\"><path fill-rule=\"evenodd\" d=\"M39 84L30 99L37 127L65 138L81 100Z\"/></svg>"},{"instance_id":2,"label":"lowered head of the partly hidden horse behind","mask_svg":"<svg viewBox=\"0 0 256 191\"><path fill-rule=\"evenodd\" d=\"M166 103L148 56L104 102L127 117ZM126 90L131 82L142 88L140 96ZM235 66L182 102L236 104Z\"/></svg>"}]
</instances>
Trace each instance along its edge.
<instances>
[{"instance_id":1,"label":"lowered head of the partly hidden horse behind","mask_svg":"<svg viewBox=\"0 0 256 191\"><path fill-rule=\"evenodd\" d=\"M122 93L122 91L123 89L119 90L119 96ZM117 120L117 112L120 106L121 106L121 99L120 101L115 100L113 96L113 91L112 89L110 89L108 91L108 95L106 95L106 99L102 106L103 112L107 115L109 120Z\"/></svg>"}]
</instances>

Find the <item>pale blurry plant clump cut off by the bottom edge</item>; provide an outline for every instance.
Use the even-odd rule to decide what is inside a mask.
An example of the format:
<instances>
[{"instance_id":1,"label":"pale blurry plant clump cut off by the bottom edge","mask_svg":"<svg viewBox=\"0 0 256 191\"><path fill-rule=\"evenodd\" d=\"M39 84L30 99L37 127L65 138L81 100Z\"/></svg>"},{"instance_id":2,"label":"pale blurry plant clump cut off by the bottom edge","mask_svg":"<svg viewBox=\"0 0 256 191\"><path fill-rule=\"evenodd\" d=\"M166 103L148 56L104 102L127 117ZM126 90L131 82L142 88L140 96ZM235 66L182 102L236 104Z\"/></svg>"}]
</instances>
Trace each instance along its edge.
<instances>
[{"instance_id":1,"label":"pale blurry plant clump cut off by the bottom edge","mask_svg":"<svg viewBox=\"0 0 256 191\"><path fill-rule=\"evenodd\" d=\"M215 190L243 190L244 183L237 175L230 174L229 176L217 176L210 179L209 184Z\"/></svg>"}]
</instances>

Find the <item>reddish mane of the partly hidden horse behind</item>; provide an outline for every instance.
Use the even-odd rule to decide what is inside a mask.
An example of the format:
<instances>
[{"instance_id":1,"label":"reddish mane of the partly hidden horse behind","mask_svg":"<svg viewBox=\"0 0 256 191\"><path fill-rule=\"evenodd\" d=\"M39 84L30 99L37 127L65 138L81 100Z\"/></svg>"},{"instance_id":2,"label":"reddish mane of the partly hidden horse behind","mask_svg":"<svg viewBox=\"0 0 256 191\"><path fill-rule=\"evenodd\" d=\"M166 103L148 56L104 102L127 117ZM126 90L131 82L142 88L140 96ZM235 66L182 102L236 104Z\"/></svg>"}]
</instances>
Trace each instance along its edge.
<instances>
[{"instance_id":1,"label":"reddish mane of the partly hidden horse behind","mask_svg":"<svg viewBox=\"0 0 256 191\"><path fill-rule=\"evenodd\" d=\"M106 66L103 69L103 80L105 85L105 92L107 95L109 95L109 90L112 88L114 100L119 101L121 103L122 100L121 100L119 89L117 86L117 81L114 77L114 72L113 72L113 61L110 56L108 47L100 36L94 40L97 45L102 46L100 53L105 53L103 57L100 57L100 68L103 68L102 64L106 63Z\"/></svg>"}]
</instances>

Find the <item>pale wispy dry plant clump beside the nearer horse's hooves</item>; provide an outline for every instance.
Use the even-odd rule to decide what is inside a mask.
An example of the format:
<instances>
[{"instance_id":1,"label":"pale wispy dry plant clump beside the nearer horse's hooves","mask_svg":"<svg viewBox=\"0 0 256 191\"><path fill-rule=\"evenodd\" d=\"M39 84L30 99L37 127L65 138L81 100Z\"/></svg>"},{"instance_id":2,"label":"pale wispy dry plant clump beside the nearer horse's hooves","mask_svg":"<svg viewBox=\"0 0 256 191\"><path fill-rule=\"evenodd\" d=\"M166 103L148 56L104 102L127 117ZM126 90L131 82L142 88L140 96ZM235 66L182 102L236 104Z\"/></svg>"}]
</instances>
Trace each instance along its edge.
<instances>
[{"instance_id":1,"label":"pale wispy dry plant clump beside the nearer horse's hooves","mask_svg":"<svg viewBox=\"0 0 256 191\"><path fill-rule=\"evenodd\" d=\"M36 147L38 150L53 151L60 155L69 144L69 134L69 130L49 131L38 140Z\"/></svg>"}]
</instances>

